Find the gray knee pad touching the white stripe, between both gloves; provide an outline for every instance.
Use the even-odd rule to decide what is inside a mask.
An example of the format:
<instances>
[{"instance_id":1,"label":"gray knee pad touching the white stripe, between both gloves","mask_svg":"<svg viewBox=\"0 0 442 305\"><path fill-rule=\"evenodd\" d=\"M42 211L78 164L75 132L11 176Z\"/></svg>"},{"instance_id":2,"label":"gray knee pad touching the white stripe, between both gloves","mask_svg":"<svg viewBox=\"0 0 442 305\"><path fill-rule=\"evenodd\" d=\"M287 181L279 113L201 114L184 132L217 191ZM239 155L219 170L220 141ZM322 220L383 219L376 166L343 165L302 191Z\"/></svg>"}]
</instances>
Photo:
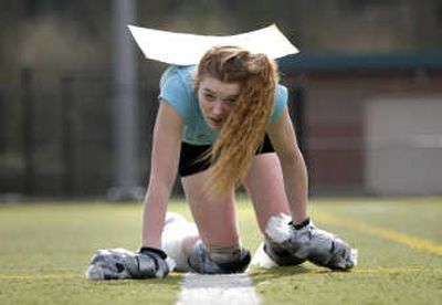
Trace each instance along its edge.
<instances>
[{"instance_id":1,"label":"gray knee pad touching the white stripe, between both gloves","mask_svg":"<svg viewBox=\"0 0 442 305\"><path fill-rule=\"evenodd\" d=\"M248 267L251 255L249 250L242 248L239 255L232 260L213 261L209 250L201 241L197 242L189 255L189 266L192 271L202 274L229 274L244 272Z\"/></svg>"}]
</instances>

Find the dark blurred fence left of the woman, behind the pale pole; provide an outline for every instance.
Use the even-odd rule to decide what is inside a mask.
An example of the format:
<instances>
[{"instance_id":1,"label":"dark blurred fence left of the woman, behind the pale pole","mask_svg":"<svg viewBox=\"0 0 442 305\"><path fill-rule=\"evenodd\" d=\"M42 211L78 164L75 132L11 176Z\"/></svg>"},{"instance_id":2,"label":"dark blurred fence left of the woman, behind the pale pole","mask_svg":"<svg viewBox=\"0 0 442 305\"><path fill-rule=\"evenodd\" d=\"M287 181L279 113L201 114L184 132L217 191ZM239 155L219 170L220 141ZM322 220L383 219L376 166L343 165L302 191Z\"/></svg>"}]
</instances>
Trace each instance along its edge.
<instances>
[{"instance_id":1,"label":"dark blurred fence left of the woman, behind the pale pole","mask_svg":"<svg viewBox=\"0 0 442 305\"><path fill-rule=\"evenodd\" d=\"M158 87L137 87L143 130L137 171L145 183ZM114 151L108 73L23 69L20 84L1 92L1 172L4 193L104 196L113 187ZM9 105L4 102L8 101ZM7 107L8 106L8 107Z\"/></svg>"}]
</instances>

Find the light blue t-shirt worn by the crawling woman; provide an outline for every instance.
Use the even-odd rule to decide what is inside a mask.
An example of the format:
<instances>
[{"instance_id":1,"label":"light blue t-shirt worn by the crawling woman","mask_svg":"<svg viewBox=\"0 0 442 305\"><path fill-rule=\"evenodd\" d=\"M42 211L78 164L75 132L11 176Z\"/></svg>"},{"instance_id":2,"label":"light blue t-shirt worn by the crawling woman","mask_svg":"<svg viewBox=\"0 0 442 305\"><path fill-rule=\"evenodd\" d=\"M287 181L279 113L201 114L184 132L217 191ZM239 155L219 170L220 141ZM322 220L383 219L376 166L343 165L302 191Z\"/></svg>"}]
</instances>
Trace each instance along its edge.
<instances>
[{"instance_id":1,"label":"light blue t-shirt worn by the crawling woman","mask_svg":"<svg viewBox=\"0 0 442 305\"><path fill-rule=\"evenodd\" d=\"M217 139L218 133L207 125L199 107L198 97L193 91L196 67L194 65L168 67L160 80L158 98L168 102L183 118L182 141L192 145L210 145ZM287 105L287 88L278 84L270 124L280 117Z\"/></svg>"}]
</instances>

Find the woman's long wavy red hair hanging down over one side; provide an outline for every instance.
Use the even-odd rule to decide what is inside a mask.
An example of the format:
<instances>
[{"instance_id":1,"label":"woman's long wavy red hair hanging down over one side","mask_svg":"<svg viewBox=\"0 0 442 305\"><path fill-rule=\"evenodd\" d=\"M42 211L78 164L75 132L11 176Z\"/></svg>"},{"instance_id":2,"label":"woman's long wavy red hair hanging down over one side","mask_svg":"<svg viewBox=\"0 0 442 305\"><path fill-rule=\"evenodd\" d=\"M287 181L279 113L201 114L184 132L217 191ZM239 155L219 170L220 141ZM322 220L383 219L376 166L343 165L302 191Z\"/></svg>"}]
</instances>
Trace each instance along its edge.
<instances>
[{"instance_id":1,"label":"woman's long wavy red hair hanging down over one side","mask_svg":"<svg viewBox=\"0 0 442 305\"><path fill-rule=\"evenodd\" d=\"M203 55L196 90L207 75L240 84L239 97L212 149L204 156L211 161L207 188L217 196L231 191L246 176L263 143L278 75L276 63L265 54L252 54L236 46L215 46Z\"/></svg>"}]
</instances>

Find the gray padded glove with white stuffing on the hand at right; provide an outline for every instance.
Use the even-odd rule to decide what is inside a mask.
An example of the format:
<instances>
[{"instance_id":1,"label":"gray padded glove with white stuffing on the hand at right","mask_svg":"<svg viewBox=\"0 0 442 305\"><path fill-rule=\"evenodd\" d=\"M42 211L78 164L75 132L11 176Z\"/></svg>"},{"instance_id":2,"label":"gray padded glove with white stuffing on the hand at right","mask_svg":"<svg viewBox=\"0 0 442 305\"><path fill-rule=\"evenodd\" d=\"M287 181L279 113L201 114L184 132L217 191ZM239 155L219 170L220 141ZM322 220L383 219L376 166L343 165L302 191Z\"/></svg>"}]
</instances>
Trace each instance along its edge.
<instances>
[{"instance_id":1,"label":"gray padded glove with white stuffing on the hand at right","mask_svg":"<svg viewBox=\"0 0 442 305\"><path fill-rule=\"evenodd\" d=\"M280 221L281 219L273 219ZM352 250L338 236L317 229L311 220L296 229L292 223L270 223L269 236L299 260L332 270L348 270L357 263L357 250Z\"/></svg>"}]
</instances>

